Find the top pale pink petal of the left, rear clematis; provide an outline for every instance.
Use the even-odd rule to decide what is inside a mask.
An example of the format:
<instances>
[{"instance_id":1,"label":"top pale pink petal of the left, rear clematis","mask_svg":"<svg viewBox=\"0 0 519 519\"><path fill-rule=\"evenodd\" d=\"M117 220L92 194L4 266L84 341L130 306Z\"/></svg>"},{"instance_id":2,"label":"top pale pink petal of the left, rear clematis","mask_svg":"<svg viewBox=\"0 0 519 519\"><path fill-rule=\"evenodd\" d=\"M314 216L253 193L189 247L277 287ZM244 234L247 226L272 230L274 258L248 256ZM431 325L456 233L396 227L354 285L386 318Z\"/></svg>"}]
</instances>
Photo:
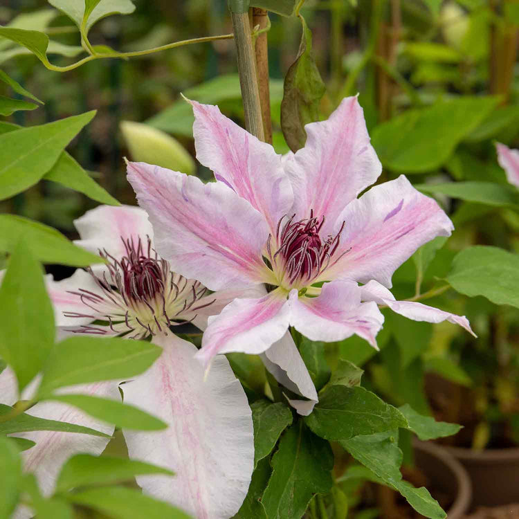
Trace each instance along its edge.
<instances>
[{"instance_id":1,"label":"top pale pink petal of the left, rear clematis","mask_svg":"<svg viewBox=\"0 0 519 519\"><path fill-rule=\"evenodd\" d=\"M153 239L146 211L135 206L98 206L74 220L74 225L81 237L76 245L94 254L107 251L117 260L126 253L122 239Z\"/></svg>"}]
</instances>

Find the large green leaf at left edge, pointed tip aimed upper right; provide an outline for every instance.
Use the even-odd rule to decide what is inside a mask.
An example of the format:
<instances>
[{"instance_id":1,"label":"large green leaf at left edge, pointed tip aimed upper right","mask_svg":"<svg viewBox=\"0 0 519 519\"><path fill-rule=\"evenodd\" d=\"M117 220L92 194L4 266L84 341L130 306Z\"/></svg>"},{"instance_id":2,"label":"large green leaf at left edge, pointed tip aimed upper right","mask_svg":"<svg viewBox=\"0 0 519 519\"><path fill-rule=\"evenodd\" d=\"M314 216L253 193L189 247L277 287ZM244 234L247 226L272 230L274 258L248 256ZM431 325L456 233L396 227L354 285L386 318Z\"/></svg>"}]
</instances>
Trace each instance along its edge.
<instances>
[{"instance_id":1,"label":"large green leaf at left edge, pointed tip aimed upper right","mask_svg":"<svg viewBox=\"0 0 519 519\"><path fill-rule=\"evenodd\" d=\"M0 200L37 183L94 115L95 111L89 111L46 125L1 134Z\"/></svg>"}]
</instances>

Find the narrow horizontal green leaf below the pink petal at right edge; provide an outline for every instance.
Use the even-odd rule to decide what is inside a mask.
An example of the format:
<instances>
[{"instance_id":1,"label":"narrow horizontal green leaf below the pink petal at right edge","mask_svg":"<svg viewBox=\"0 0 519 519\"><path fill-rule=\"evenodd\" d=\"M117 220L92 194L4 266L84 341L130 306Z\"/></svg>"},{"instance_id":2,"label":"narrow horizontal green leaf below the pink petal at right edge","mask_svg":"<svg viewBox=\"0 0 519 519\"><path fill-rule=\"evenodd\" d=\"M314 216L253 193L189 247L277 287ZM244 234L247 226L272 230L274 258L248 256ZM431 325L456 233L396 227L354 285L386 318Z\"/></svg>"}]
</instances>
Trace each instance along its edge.
<instances>
[{"instance_id":1,"label":"narrow horizontal green leaf below the pink petal at right edge","mask_svg":"<svg viewBox=\"0 0 519 519\"><path fill-rule=\"evenodd\" d=\"M468 202L486 206L519 210L519 191L511 185L493 182L449 182L445 184L416 184L424 193L441 193Z\"/></svg>"}]
</instances>

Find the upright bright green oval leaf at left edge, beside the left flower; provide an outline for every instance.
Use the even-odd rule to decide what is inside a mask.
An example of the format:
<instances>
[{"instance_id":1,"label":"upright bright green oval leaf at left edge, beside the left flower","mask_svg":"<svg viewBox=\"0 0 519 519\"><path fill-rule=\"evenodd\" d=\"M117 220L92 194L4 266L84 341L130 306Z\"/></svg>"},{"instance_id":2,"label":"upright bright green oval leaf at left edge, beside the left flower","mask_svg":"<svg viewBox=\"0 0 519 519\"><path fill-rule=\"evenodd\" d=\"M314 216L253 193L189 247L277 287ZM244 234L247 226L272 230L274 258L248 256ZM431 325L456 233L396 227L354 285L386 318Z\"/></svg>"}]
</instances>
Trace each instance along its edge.
<instances>
[{"instance_id":1,"label":"upright bright green oval leaf at left edge, beside the left flower","mask_svg":"<svg viewBox=\"0 0 519 519\"><path fill-rule=\"evenodd\" d=\"M20 392L54 343L54 312L43 274L25 242L19 242L0 285L0 356L15 371Z\"/></svg>"}]
</instances>

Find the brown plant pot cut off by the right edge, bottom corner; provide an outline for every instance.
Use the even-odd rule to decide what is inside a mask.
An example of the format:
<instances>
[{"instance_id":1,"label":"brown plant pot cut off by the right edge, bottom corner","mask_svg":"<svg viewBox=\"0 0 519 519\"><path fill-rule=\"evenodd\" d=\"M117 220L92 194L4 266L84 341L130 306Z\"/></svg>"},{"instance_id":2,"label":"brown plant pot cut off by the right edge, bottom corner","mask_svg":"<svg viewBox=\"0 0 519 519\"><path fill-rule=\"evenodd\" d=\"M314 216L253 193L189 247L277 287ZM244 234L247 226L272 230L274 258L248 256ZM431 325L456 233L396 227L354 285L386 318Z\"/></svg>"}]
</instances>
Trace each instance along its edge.
<instances>
[{"instance_id":1,"label":"brown plant pot cut off by the right edge, bottom corner","mask_svg":"<svg viewBox=\"0 0 519 519\"><path fill-rule=\"evenodd\" d=\"M519 448L444 448L471 477L473 507L519 503Z\"/></svg>"}]
</instances>

